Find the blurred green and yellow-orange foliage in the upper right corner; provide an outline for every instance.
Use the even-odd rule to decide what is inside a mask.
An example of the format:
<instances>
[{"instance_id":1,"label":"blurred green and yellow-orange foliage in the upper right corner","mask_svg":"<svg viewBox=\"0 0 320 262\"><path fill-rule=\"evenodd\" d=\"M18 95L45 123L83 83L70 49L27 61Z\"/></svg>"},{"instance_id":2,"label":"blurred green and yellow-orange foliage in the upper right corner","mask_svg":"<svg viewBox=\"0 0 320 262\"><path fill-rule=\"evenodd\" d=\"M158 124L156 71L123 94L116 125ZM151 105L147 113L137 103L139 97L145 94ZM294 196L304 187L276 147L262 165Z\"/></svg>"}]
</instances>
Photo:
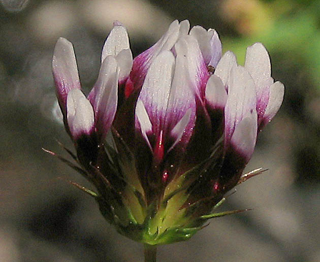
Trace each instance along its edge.
<instances>
[{"instance_id":1,"label":"blurred green and yellow-orange foliage in the upper right corner","mask_svg":"<svg viewBox=\"0 0 320 262\"><path fill-rule=\"evenodd\" d=\"M264 1L243 11L251 29L236 38L222 39L223 48L243 64L245 47L262 42L270 53L281 53L308 68L312 84L320 88L320 1Z\"/></svg>"}]
</instances>

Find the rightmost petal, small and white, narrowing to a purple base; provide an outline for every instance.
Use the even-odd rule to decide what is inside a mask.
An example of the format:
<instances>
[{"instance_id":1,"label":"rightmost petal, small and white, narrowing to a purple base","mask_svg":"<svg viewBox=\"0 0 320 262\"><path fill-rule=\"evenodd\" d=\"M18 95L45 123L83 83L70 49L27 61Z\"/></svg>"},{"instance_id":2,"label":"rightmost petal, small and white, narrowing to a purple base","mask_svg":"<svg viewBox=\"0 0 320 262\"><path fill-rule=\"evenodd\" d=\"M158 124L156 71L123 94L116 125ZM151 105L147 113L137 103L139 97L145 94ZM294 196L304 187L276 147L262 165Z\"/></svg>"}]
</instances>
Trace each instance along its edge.
<instances>
[{"instance_id":1,"label":"rightmost petal, small and white, narrowing to a purple base","mask_svg":"<svg viewBox=\"0 0 320 262\"><path fill-rule=\"evenodd\" d=\"M264 125L269 123L275 114L278 112L284 96L284 85L277 81L270 86L269 90L269 103L266 108L265 114L261 119L261 123L259 123L262 128Z\"/></svg>"}]
</instances>

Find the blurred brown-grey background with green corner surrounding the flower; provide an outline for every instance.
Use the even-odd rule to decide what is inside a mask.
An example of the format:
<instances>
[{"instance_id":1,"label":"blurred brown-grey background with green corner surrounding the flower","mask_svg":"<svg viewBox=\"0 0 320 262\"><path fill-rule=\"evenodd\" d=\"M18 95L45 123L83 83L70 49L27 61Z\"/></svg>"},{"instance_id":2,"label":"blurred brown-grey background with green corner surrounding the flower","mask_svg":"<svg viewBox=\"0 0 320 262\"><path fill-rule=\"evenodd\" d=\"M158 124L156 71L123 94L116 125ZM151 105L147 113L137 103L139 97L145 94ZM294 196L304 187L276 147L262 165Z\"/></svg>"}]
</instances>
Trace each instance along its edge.
<instances>
[{"instance_id":1,"label":"blurred brown-grey background with green corner surrounding the flower","mask_svg":"<svg viewBox=\"0 0 320 262\"><path fill-rule=\"evenodd\" d=\"M320 261L320 1L0 2L0 261L142 261L142 246L117 234L68 181L91 185L41 149L66 156L56 140L72 148L51 59L56 40L70 40L89 90L114 20L127 27L137 55L174 19L215 28L240 64L248 45L264 43L272 76L286 89L247 167L269 170L220 209L253 210L159 247L158 261Z\"/></svg>"}]
</instances>

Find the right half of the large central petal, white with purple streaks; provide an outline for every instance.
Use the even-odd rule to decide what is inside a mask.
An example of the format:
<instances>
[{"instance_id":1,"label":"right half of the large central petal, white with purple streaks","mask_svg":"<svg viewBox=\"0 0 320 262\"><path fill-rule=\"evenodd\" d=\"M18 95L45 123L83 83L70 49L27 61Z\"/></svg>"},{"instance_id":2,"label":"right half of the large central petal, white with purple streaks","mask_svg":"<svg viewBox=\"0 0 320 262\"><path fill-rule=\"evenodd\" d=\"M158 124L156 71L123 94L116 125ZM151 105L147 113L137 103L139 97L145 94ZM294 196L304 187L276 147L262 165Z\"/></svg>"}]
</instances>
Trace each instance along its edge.
<instances>
[{"instance_id":1,"label":"right half of the large central petal, white with purple streaks","mask_svg":"<svg viewBox=\"0 0 320 262\"><path fill-rule=\"evenodd\" d=\"M184 123L184 132L181 130L181 138L176 139L173 134L168 134L173 141L170 150L176 147L173 155L184 152L196 124L196 112L198 106L203 106L205 84L209 74L204 63L199 44L195 37L181 37L175 45L176 68L172 82L167 118L167 130L174 130L178 121ZM196 96L199 105L196 104ZM187 112L189 112L187 114ZM185 119L183 119L185 117ZM182 120L183 119L183 120ZM188 120L187 122L185 122ZM210 122L210 120L208 119ZM181 127L181 126L180 126Z\"/></svg>"}]
</instances>

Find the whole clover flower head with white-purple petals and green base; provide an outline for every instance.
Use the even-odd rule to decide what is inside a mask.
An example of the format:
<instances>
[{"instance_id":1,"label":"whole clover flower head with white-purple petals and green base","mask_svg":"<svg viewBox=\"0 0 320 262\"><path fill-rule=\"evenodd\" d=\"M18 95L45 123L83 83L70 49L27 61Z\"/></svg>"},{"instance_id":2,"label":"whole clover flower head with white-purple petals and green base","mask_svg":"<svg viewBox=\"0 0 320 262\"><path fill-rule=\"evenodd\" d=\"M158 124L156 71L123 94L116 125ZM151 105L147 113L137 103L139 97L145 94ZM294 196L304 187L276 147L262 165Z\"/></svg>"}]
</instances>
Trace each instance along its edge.
<instances>
[{"instance_id":1,"label":"whole clover flower head with white-purple petals and green base","mask_svg":"<svg viewBox=\"0 0 320 262\"><path fill-rule=\"evenodd\" d=\"M278 111L284 86L271 78L261 43L244 67L215 30L174 21L133 59L115 22L97 82L82 91L72 44L56 44L53 76L68 134L105 218L136 241L188 239L223 196L245 180L257 136ZM227 212L228 213L228 212Z\"/></svg>"}]
</instances>

